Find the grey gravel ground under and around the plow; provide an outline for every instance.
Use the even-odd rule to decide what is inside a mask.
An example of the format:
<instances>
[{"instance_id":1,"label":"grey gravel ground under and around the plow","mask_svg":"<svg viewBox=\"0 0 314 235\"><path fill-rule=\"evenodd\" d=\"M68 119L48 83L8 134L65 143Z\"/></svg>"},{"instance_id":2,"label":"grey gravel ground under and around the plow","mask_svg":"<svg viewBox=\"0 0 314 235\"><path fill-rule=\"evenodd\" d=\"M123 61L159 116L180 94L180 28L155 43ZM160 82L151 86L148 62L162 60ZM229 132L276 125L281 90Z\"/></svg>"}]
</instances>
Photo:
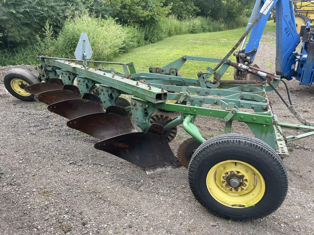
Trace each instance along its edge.
<instances>
[{"instance_id":1,"label":"grey gravel ground under and around the plow","mask_svg":"<svg viewBox=\"0 0 314 235\"><path fill-rule=\"evenodd\" d=\"M256 62L274 71L275 44L269 41L262 41ZM34 72L33 66L14 67ZM276 212L227 221L194 199L186 169L146 175L94 149L95 138L67 128L67 120L45 105L12 97L3 86L11 68L0 68L0 234L314 234L313 137L296 141L284 159L290 186ZM297 109L311 119L313 87L288 83ZM283 86L279 91L285 96ZM281 121L298 123L274 92L269 98ZM223 133L217 119L200 117L196 123L205 135ZM252 134L241 123L234 127L233 132ZM174 152L189 138L180 127L178 133L171 142Z\"/></svg>"}]
</instances>

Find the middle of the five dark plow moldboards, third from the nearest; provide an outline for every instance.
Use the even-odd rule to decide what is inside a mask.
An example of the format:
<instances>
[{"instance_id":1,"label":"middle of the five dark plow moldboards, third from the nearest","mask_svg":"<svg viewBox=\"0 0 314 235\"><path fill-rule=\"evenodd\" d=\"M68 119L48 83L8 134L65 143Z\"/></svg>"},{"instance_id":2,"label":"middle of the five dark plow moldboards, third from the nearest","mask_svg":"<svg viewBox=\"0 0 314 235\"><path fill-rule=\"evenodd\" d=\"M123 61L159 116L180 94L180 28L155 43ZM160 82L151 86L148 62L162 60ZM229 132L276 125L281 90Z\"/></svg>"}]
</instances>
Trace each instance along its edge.
<instances>
[{"instance_id":1,"label":"middle of the five dark plow moldboards, third from the nearest","mask_svg":"<svg viewBox=\"0 0 314 235\"><path fill-rule=\"evenodd\" d=\"M99 96L85 93L82 99L64 100L48 106L50 112L64 118L74 119L91 113L105 112Z\"/></svg>"}]
</instances>

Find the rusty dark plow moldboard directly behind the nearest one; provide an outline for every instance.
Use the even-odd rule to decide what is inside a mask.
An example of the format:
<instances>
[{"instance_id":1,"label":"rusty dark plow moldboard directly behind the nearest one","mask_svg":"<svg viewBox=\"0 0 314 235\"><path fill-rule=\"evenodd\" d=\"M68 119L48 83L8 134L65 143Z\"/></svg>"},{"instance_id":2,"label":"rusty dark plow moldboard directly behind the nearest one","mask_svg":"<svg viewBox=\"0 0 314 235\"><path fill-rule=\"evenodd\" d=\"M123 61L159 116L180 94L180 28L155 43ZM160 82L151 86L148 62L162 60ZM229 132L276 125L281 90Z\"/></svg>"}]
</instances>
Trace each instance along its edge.
<instances>
[{"instance_id":1,"label":"rusty dark plow moldboard directly behind the nearest one","mask_svg":"<svg viewBox=\"0 0 314 235\"><path fill-rule=\"evenodd\" d=\"M136 132L125 108L119 106L110 106L106 112L91 113L74 118L68 121L67 125L101 140Z\"/></svg>"}]
</instances>

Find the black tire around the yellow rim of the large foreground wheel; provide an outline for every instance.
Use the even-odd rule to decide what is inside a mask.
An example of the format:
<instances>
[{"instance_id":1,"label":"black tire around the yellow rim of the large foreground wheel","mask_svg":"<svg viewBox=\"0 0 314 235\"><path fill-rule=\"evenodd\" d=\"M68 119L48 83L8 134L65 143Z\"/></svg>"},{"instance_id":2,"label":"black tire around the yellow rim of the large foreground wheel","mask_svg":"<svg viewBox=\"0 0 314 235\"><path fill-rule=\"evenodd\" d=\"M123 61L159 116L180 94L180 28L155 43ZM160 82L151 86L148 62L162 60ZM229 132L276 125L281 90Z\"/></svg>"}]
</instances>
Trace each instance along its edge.
<instances>
[{"instance_id":1,"label":"black tire around the yellow rim of the large foreground wheel","mask_svg":"<svg viewBox=\"0 0 314 235\"><path fill-rule=\"evenodd\" d=\"M208 171L226 160L240 160L255 167L265 181L265 193L254 206L231 208L216 201L206 186ZM269 215L283 203L288 191L288 176L279 155L268 144L248 135L223 134L201 144L188 168L188 180L195 198L219 217L250 220Z\"/></svg>"}]
</instances>

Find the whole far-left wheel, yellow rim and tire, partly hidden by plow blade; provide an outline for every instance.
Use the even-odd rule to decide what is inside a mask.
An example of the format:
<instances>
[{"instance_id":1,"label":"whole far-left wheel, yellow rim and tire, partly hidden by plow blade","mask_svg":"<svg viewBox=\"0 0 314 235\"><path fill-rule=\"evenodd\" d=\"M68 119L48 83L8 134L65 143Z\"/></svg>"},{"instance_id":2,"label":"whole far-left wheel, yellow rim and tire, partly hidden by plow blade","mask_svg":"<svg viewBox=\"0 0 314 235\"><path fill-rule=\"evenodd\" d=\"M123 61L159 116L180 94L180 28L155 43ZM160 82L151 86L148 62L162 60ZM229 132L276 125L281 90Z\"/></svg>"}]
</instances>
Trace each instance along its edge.
<instances>
[{"instance_id":1,"label":"whole far-left wheel, yellow rim and tire, partly hidden by plow blade","mask_svg":"<svg viewBox=\"0 0 314 235\"><path fill-rule=\"evenodd\" d=\"M23 101L34 101L34 96L24 90L26 86L39 83L40 80L31 72L24 69L10 69L3 78L8 92Z\"/></svg>"}]
</instances>

